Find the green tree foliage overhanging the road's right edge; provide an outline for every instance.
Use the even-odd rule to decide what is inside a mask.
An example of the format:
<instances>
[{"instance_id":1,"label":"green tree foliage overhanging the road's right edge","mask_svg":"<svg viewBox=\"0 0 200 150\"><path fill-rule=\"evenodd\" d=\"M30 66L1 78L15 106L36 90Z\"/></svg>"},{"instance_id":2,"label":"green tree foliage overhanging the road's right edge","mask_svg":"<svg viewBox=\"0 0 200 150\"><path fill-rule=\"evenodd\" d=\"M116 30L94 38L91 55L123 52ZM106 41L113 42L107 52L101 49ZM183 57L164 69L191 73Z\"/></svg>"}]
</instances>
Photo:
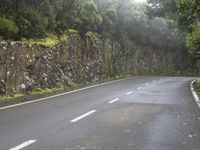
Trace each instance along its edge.
<instances>
[{"instance_id":1,"label":"green tree foliage overhanging the road's right edge","mask_svg":"<svg viewBox=\"0 0 200 150\"><path fill-rule=\"evenodd\" d=\"M149 14L173 19L187 40L187 48L195 60L200 57L200 1L199 0L148 0ZM197 62L198 63L198 62Z\"/></svg>"}]
</instances>

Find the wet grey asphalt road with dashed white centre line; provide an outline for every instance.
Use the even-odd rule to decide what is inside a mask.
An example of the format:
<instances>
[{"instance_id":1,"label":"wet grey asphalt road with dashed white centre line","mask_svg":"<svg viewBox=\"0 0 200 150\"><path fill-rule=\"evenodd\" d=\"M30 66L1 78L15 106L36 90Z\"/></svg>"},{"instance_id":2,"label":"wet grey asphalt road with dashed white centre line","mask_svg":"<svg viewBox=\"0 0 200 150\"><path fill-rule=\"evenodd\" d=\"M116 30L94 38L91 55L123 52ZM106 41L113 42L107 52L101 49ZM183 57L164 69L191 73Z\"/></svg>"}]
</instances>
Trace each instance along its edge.
<instances>
[{"instance_id":1,"label":"wet grey asphalt road with dashed white centre line","mask_svg":"<svg viewBox=\"0 0 200 150\"><path fill-rule=\"evenodd\" d=\"M200 150L184 77L139 77L0 110L0 150Z\"/></svg>"}]
</instances>

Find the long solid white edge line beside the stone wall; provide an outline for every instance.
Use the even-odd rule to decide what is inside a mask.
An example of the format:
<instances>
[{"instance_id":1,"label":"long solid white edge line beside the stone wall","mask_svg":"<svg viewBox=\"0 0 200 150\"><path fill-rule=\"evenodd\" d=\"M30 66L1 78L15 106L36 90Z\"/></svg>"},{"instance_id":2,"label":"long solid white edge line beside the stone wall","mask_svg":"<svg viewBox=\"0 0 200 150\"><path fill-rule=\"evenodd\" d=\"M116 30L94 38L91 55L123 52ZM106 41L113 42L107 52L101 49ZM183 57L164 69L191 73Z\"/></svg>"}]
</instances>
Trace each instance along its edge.
<instances>
[{"instance_id":1,"label":"long solid white edge line beside the stone wall","mask_svg":"<svg viewBox=\"0 0 200 150\"><path fill-rule=\"evenodd\" d=\"M61 94L56 94L56 95L49 96L49 97L44 97L44 98L40 98L40 99L28 101L28 102L23 102L23 103L19 103L19 104L14 104L14 105L1 107L0 110L13 108L13 107L16 107L16 106L21 106L21 105L26 105L26 104L31 104L31 103L35 103L35 102L39 102L39 101L44 101L44 100L47 100L47 99L51 99L51 98L55 98L55 97L59 97L59 96L63 96L63 95L67 95L67 94L71 94L71 93L87 90L87 89L91 89L91 88L102 86L102 85L107 85L107 84L114 83L114 82L130 80L130 79L135 79L135 78L141 78L141 77L143 77L143 76L131 77L131 78L126 78L126 79L119 79L119 80L109 81L109 82L105 82L105 83L101 83L101 84L96 84L96 85L93 85L93 86L88 86L88 87L85 87L85 88L81 88L81 89L77 89L77 90L73 90L73 91L69 91L69 92L65 92L65 93L61 93Z\"/></svg>"}]
</instances>

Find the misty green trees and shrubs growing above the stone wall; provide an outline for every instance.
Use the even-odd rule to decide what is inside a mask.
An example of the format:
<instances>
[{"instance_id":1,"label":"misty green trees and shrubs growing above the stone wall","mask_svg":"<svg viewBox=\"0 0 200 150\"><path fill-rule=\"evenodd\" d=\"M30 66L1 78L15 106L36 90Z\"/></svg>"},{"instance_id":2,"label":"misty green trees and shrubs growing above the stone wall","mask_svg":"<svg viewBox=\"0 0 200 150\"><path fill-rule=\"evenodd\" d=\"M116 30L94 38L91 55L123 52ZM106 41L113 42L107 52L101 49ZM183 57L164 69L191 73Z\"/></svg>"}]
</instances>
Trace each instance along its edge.
<instances>
[{"instance_id":1,"label":"misty green trees and shrubs growing above the stone wall","mask_svg":"<svg viewBox=\"0 0 200 150\"><path fill-rule=\"evenodd\" d=\"M124 47L130 40L162 50L180 49L183 43L176 30L169 29L162 18L149 19L146 11L144 5L133 0L2 0L0 16L9 18L12 26L7 29L10 32L0 30L0 35L3 39L53 46L67 31L75 30L81 37L97 33Z\"/></svg>"}]
</instances>

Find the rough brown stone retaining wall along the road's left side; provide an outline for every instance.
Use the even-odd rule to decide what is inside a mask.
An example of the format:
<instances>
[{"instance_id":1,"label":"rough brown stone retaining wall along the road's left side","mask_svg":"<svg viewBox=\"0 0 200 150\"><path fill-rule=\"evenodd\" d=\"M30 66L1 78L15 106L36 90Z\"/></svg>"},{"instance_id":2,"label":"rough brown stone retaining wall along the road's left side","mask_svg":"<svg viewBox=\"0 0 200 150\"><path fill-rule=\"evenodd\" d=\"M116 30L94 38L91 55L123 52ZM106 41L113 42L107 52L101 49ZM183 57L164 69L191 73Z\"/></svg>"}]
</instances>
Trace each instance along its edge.
<instances>
[{"instance_id":1,"label":"rough brown stone retaining wall along the road's left side","mask_svg":"<svg viewBox=\"0 0 200 150\"><path fill-rule=\"evenodd\" d=\"M0 94L59 84L71 86L127 74L162 73L166 56L166 52L113 42L92 32L84 38L69 32L67 41L54 47L2 41ZM166 72L170 74L173 69Z\"/></svg>"}]
</instances>

